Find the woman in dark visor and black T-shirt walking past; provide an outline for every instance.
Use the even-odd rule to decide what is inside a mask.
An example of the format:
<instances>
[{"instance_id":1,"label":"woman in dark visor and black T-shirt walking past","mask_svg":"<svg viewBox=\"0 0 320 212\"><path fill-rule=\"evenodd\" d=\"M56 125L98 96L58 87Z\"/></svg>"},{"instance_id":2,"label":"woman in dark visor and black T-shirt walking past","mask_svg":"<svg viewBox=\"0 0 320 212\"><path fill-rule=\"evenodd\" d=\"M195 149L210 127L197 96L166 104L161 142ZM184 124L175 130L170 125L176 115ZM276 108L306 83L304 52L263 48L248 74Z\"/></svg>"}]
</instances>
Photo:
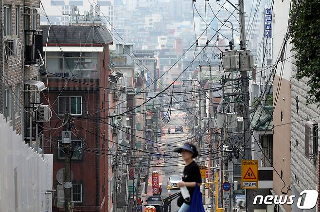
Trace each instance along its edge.
<instances>
[{"instance_id":1,"label":"woman in dark visor and black T-shirt walking past","mask_svg":"<svg viewBox=\"0 0 320 212\"><path fill-rule=\"evenodd\" d=\"M187 212L191 204L196 184L202 183L199 166L193 160L198 156L198 151L196 146L192 143L184 143L183 146L175 148L175 151L181 153L181 158L185 162L182 181L178 182L178 187L187 187L190 194L190 198L187 199L184 199L182 195L179 196L178 206L180 209L178 212Z\"/></svg>"}]
</instances>

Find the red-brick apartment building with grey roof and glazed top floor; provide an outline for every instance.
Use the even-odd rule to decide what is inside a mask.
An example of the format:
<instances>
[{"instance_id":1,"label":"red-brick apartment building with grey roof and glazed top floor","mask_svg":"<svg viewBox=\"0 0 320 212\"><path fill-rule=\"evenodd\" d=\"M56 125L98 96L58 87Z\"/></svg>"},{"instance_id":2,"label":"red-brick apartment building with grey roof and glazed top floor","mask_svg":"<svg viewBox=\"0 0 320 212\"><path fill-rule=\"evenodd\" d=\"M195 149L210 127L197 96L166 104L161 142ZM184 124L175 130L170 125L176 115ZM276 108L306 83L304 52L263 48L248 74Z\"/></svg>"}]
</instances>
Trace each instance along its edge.
<instances>
[{"instance_id":1,"label":"red-brick apartment building with grey roof and glazed top floor","mask_svg":"<svg viewBox=\"0 0 320 212\"><path fill-rule=\"evenodd\" d=\"M109 114L108 45L113 40L100 25L41 26L41 30L46 56L41 80L48 87L41 100L52 110L45 127L55 128L44 133L45 152L53 153L53 186L57 190L53 211L64 211L63 182L56 174L65 167L59 126L64 114L70 113L73 211L107 212L112 204L107 156L110 137L108 125L98 118Z\"/></svg>"}]
</instances>

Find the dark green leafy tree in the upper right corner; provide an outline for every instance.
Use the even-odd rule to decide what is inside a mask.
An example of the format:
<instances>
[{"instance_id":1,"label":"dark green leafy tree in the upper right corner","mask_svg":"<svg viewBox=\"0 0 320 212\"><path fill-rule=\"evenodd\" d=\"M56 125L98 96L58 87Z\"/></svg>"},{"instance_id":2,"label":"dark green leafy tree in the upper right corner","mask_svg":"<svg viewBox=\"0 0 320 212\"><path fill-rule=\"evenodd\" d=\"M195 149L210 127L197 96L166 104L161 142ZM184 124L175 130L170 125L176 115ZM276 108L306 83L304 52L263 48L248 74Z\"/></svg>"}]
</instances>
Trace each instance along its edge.
<instances>
[{"instance_id":1,"label":"dark green leafy tree in the upper right corner","mask_svg":"<svg viewBox=\"0 0 320 212\"><path fill-rule=\"evenodd\" d=\"M307 104L320 106L320 0L293 0L289 31L297 78L308 77Z\"/></svg>"}]
</instances>

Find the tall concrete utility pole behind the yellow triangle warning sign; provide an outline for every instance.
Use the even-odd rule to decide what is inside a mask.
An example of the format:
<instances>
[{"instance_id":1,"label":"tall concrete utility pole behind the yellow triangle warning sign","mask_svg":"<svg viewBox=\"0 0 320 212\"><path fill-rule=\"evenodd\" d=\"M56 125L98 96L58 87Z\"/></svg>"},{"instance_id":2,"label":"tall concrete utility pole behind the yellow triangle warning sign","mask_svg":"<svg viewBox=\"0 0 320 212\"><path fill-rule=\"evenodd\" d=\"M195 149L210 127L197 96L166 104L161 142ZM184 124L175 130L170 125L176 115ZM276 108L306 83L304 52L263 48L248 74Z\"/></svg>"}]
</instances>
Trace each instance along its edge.
<instances>
[{"instance_id":1,"label":"tall concrete utility pole behind the yellow triangle warning sign","mask_svg":"<svg viewBox=\"0 0 320 212\"><path fill-rule=\"evenodd\" d=\"M246 24L245 24L245 9L243 0L239 2L239 20L240 20L240 42L242 41L242 48L246 49ZM241 46L241 44L240 44ZM249 78L248 72L241 71L242 83L242 102L243 102L243 130L244 130L244 159L252 159L251 156L251 133L250 133L250 114L249 114ZM253 212L253 190L246 189L246 211Z\"/></svg>"}]
</instances>

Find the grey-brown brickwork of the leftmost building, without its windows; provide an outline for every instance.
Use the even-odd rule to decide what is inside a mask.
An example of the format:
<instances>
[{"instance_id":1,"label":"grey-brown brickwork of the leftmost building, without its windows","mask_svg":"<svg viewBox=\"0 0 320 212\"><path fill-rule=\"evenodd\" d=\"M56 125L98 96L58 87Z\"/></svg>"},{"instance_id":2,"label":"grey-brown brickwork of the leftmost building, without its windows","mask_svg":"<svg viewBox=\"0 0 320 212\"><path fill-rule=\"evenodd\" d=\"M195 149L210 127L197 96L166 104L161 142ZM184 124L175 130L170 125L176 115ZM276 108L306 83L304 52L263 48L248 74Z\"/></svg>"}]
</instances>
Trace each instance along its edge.
<instances>
[{"instance_id":1,"label":"grey-brown brickwork of the leftmost building, without its windows","mask_svg":"<svg viewBox=\"0 0 320 212\"><path fill-rule=\"evenodd\" d=\"M3 5L11 5L11 36L7 36L4 39L14 39L18 38L18 41L22 44L22 48L19 45L19 51L18 54L21 54L21 61L19 62L20 56L7 56L5 57L4 53L4 45L3 42L0 44L1 48L1 73L3 70L3 78L0 80L0 111L3 110L3 89L9 88L12 90L12 99L11 99L11 105L12 105L12 125L17 130L17 133L22 133L22 128L24 128L22 125L24 125L23 117L24 117L24 95L23 92L24 84L23 82L28 79L37 79L38 77L38 68L37 67L26 67L23 66L23 52L24 52L24 43L23 43L23 33L24 33L24 25L23 25L23 17L21 14L24 13L23 8L23 0L4 0L2 4L1 0L1 18L3 20L3 14L2 9ZM28 7L39 7L40 1L39 0L25 0L25 6ZM19 35L16 35L16 6L19 6L19 12L20 12L20 20L19 20ZM29 17L29 23L32 24L31 17ZM36 28L39 29L39 17L37 17L37 23ZM2 38L1 38L2 39ZM3 67L3 68L2 68ZM16 93L16 86L20 86L20 92ZM19 114L16 114L16 97L19 97ZM32 96L32 95L31 95Z\"/></svg>"}]
</instances>

